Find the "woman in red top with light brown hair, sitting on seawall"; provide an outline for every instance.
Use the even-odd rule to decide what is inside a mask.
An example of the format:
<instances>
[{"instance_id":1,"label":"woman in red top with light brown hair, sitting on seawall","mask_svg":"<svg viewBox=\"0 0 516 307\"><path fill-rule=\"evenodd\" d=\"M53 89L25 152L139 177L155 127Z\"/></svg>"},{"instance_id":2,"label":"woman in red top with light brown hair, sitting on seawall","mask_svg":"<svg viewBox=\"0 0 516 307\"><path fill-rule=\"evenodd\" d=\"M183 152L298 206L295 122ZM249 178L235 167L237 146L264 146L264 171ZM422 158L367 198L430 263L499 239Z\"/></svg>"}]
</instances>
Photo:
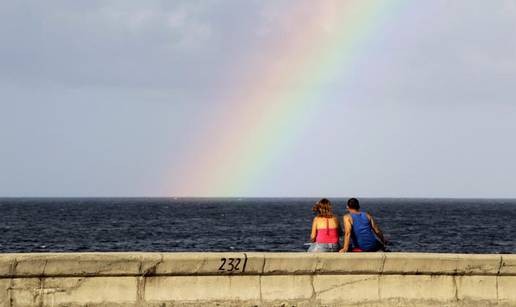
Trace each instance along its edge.
<instances>
[{"instance_id":1,"label":"woman in red top with light brown hair, sitting on seawall","mask_svg":"<svg viewBox=\"0 0 516 307\"><path fill-rule=\"evenodd\" d=\"M331 203L323 198L312 208L317 213L312 223L312 244L309 252L337 252L339 250L339 234L341 233L339 220L333 214Z\"/></svg>"}]
</instances>

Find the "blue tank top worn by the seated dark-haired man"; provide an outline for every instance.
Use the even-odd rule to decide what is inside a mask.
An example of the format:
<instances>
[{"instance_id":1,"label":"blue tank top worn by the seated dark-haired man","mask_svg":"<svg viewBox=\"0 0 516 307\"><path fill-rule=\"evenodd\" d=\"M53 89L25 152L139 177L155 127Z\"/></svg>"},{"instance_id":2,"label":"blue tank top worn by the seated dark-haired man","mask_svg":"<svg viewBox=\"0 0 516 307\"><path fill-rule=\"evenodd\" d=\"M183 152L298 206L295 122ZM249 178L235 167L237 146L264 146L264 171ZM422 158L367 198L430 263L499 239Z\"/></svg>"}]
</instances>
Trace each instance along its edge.
<instances>
[{"instance_id":1,"label":"blue tank top worn by the seated dark-haired man","mask_svg":"<svg viewBox=\"0 0 516 307\"><path fill-rule=\"evenodd\" d=\"M371 222L364 212L351 213L353 229L351 232L352 248L360 248L363 251L377 251L379 242L371 229Z\"/></svg>"}]
</instances>

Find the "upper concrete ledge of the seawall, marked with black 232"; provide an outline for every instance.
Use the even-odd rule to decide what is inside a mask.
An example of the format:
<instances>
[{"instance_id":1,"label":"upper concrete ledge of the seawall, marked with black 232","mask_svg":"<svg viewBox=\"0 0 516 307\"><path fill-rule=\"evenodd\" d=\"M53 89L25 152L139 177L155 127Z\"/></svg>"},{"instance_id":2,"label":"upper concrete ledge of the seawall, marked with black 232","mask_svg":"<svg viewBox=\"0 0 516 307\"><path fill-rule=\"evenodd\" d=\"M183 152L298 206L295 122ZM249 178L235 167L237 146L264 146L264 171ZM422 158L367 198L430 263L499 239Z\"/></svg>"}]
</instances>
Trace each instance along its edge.
<instances>
[{"instance_id":1,"label":"upper concrete ledge of the seawall, marked with black 232","mask_svg":"<svg viewBox=\"0 0 516 307\"><path fill-rule=\"evenodd\" d=\"M234 259L234 270L219 270ZM245 268L244 268L245 265ZM516 255L425 253L40 253L0 254L0 278L181 275L503 275Z\"/></svg>"}]
</instances>

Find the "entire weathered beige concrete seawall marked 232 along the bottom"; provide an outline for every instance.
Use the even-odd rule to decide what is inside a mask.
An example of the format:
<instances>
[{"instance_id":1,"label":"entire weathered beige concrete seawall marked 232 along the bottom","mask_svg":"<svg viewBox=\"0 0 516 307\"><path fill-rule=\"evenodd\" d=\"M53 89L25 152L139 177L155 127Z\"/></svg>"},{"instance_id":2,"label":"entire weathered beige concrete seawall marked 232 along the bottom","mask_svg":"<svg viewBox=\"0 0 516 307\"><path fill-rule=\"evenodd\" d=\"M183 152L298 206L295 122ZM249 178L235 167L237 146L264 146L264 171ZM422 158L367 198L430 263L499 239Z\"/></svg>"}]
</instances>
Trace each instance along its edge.
<instances>
[{"instance_id":1,"label":"entire weathered beige concrete seawall marked 232 along the bottom","mask_svg":"<svg viewBox=\"0 0 516 307\"><path fill-rule=\"evenodd\" d=\"M516 306L516 255L0 254L0 306Z\"/></svg>"}]
</instances>

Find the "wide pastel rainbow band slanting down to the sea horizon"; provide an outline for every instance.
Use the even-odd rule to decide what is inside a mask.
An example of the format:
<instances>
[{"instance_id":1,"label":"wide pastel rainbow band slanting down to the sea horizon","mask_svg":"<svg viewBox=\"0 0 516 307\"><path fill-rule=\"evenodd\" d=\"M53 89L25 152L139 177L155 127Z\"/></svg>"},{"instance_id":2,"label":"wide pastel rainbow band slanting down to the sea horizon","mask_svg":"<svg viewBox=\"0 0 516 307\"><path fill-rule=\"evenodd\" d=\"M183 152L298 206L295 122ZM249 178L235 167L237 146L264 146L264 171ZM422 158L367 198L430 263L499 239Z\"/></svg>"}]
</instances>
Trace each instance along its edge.
<instances>
[{"instance_id":1,"label":"wide pastel rainbow band slanting down to the sea horizon","mask_svg":"<svg viewBox=\"0 0 516 307\"><path fill-rule=\"evenodd\" d=\"M317 113L325 85L352 77L354 55L402 1L302 3L285 10L296 25L287 37L268 40L257 55L233 66L246 73L229 74L235 89L230 108L214 114L204 136L188 149L188 161L174 169L181 179L168 188L170 194L252 195L271 163L302 137L302 123Z\"/></svg>"}]
</instances>

